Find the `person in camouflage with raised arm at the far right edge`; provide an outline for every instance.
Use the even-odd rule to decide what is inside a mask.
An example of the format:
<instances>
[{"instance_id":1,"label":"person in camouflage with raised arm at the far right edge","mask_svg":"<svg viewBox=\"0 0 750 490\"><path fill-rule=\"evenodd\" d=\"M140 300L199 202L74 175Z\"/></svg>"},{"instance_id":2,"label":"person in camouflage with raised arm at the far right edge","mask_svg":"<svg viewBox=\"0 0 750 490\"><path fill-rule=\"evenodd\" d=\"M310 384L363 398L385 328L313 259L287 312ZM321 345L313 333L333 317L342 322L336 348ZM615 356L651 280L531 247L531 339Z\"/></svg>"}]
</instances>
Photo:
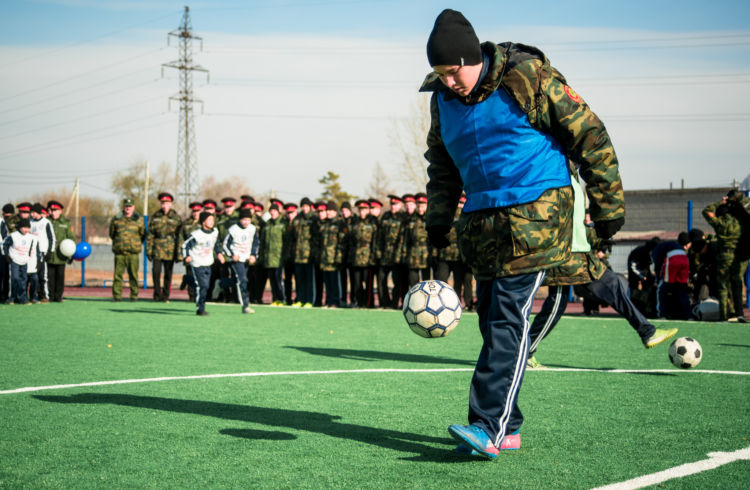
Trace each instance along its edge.
<instances>
[{"instance_id":1,"label":"person in camouflage with raised arm at the far right edge","mask_svg":"<svg viewBox=\"0 0 750 490\"><path fill-rule=\"evenodd\" d=\"M742 221L749 210L750 200L743 198L736 189L731 189L721 201L709 204L703 210L703 217L716 232L716 284L721 321L746 321L742 279L747 270L750 242L742 240ZM748 233L747 226L745 233Z\"/></svg>"}]
</instances>

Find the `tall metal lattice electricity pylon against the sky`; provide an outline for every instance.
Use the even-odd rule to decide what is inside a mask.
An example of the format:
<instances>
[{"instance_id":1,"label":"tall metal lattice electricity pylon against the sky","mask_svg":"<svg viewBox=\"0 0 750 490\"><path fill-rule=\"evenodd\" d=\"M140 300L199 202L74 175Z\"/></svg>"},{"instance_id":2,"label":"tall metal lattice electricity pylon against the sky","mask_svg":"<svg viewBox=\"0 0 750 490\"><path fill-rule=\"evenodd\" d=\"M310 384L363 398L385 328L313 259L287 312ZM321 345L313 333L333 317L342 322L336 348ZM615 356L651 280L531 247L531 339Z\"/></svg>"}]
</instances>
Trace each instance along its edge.
<instances>
[{"instance_id":1,"label":"tall metal lattice electricity pylon against the sky","mask_svg":"<svg viewBox=\"0 0 750 490\"><path fill-rule=\"evenodd\" d=\"M177 175L181 179L182 188L178 194L183 196L187 203L195 200L198 194L198 155L195 144L193 103L199 103L203 107L203 101L193 96L193 72L205 72L206 78L208 78L208 70L193 63L193 40L199 40L201 50L203 50L203 39L193 34L193 28L190 25L190 7L185 6L182 25L169 33L167 45L169 45L171 36L180 40L180 58L170 63L164 63L162 65L162 76L164 67L180 70L180 91L171 96L169 100L170 102L175 100L180 103L180 124L177 130Z\"/></svg>"}]
</instances>

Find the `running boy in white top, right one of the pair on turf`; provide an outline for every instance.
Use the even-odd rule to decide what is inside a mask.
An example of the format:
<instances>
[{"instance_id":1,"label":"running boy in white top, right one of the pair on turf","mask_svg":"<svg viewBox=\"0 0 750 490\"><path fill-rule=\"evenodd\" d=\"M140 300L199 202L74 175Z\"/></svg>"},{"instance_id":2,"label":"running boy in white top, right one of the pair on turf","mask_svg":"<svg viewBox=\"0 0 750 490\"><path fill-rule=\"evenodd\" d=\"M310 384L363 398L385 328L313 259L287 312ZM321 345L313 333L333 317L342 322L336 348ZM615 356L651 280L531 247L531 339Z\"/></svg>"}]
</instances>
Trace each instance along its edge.
<instances>
[{"instance_id":1,"label":"running boy in white top, right one of the pair on turf","mask_svg":"<svg viewBox=\"0 0 750 490\"><path fill-rule=\"evenodd\" d=\"M252 218L251 210L240 209L240 221L229 227L222 243L224 253L232 259L230 266L242 313L255 313L250 308L250 294L247 292L247 266L255 264L260 243L257 229L251 223Z\"/></svg>"}]
</instances>

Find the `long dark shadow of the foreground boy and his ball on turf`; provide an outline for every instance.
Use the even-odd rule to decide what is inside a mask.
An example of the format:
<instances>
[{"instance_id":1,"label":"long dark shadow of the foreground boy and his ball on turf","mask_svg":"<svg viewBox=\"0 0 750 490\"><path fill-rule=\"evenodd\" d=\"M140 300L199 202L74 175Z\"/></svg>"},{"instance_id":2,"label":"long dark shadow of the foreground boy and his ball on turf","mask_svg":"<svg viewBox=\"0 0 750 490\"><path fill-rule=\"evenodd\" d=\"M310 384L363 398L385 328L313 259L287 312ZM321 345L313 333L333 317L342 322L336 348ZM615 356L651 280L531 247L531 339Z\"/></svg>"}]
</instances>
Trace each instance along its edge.
<instances>
[{"instance_id":1,"label":"long dark shadow of the foreground boy and his ball on turf","mask_svg":"<svg viewBox=\"0 0 750 490\"><path fill-rule=\"evenodd\" d=\"M70 396L32 395L37 400L63 404L120 405L124 407L189 413L206 417L250 422L271 427L323 434L339 439L349 439L372 444L416 456L401 459L425 462L468 462L475 458L452 452L454 441L448 437L430 437L422 434L367 427L340 422L341 417L320 412L288 410L283 408L255 407L200 400L181 400L115 393L80 393ZM251 440L289 441L297 436L280 431L252 429L222 429L221 434ZM447 445L447 447L446 447Z\"/></svg>"}]
</instances>

